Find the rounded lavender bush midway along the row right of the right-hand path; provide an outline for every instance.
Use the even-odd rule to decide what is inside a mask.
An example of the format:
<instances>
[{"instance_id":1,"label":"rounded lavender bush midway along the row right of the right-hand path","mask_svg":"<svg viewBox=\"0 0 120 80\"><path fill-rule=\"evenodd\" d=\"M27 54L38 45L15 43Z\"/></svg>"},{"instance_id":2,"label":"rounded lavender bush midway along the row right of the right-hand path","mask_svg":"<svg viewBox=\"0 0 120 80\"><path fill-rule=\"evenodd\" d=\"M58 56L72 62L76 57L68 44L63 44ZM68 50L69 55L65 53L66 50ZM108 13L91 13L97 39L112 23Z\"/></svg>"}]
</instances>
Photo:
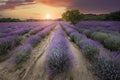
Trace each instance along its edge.
<instances>
[{"instance_id":1,"label":"rounded lavender bush midway along the row right of the right-hand path","mask_svg":"<svg viewBox=\"0 0 120 80\"><path fill-rule=\"evenodd\" d=\"M82 49L84 55L91 60L93 60L100 52L98 44L90 39L84 39L80 42L79 46Z\"/></svg>"}]
</instances>

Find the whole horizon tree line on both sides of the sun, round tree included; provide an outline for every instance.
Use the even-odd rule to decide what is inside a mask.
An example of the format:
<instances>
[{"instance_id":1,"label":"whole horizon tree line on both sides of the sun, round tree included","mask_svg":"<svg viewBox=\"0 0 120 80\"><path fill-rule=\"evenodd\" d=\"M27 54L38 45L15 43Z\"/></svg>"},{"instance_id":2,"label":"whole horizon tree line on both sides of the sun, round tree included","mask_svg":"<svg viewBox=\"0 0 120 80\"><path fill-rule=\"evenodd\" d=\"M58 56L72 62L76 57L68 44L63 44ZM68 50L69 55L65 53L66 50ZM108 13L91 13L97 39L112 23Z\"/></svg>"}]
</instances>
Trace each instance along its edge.
<instances>
[{"instance_id":1,"label":"whole horizon tree line on both sides of the sun, round tree included","mask_svg":"<svg viewBox=\"0 0 120 80\"><path fill-rule=\"evenodd\" d=\"M56 19L57 21L71 21L72 24L76 24L79 21L120 21L120 11L112 12L109 14L82 14L79 10L67 10L62 14L62 19ZM17 18L0 18L0 22L35 22L45 21L39 19L26 19L21 20Z\"/></svg>"}]
</instances>

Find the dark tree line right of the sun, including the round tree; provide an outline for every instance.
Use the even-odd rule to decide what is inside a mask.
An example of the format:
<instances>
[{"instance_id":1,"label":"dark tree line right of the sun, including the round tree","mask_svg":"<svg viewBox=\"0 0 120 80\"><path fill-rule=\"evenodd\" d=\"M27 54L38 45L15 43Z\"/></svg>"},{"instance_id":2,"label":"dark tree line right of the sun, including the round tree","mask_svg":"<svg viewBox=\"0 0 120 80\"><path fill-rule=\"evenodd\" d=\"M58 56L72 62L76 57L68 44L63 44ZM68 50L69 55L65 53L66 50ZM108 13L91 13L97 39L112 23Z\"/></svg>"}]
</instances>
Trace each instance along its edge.
<instances>
[{"instance_id":1,"label":"dark tree line right of the sun, including the round tree","mask_svg":"<svg viewBox=\"0 0 120 80\"><path fill-rule=\"evenodd\" d=\"M67 10L62 14L64 21L76 24L79 21L120 21L120 11L109 14L82 14L79 10Z\"/></svg>"}]
</instances>

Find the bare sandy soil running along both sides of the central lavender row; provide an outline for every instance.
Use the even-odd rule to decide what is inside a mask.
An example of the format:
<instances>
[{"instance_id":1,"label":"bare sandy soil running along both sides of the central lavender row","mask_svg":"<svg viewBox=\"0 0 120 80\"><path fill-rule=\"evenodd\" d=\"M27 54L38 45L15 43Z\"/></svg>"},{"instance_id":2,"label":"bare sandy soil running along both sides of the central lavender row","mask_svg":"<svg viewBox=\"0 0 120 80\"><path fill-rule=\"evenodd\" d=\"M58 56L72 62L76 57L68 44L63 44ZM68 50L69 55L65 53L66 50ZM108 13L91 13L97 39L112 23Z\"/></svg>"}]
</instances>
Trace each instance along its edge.
<instances>
[{"instance_id":1,"label":"bare sandy soil running along both sides of the central lavender row","mask_svg":"<svg viewBox=\"0 0 120 80\"><path fill-rule=\"evenodd\" d=\"M33 49L30 59L21 64L19 69L0 70L0 80L53 80L45 71L46 50L53 37L54 30L36 48ZM73 68L67 74L58 76L54 80L97 80L87 69L88 61L80 49L67 39L70 50L74 55Z\"/></svg>"}]
</instances>

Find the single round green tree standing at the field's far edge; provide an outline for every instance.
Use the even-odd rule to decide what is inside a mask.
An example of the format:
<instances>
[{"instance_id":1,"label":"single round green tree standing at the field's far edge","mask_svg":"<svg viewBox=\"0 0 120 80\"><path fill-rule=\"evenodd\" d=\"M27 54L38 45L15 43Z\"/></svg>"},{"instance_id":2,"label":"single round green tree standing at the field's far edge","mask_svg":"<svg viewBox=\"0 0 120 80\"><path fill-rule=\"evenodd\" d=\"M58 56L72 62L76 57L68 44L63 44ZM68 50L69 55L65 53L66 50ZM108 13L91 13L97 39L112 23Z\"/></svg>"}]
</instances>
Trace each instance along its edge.
<instances>
[{"instance_id":1,"label":"single round green tree standing at the field's far edge","mask_svg":"<svg viewBox=\"0 0 120 80\"><path fill-rule=\"evenodd\" d=\"M76 24L83 19L83 14L79 10L67 10L62 14L64 21L70 21L72 24Z\"/></svg>"}]
</instances>

